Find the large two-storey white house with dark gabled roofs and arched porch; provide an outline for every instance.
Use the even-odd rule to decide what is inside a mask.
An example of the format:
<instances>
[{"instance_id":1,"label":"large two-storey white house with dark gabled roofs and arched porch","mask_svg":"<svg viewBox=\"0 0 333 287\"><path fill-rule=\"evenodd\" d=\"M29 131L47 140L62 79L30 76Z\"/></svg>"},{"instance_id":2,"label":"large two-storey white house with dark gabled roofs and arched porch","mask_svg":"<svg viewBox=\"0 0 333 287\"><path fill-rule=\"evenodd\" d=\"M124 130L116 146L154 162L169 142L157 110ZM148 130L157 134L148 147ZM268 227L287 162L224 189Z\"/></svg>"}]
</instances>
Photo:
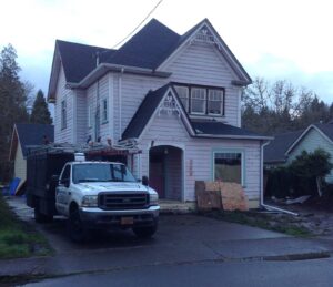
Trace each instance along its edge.
<instances>
[{"instance_id":1,"label":"large two-storey white house with dark gabled roofs and arched porch","mask_svg":"<svg viewBox=\"0 0 333 287\"><path fill-rule=\"evenodd\" d=\"M56 142L134 139L141 153L125 161L161 198L194 201L195 181L222 180L242 184L259 207L270 137L241 129L251 82L206 19L183 35L153 19L118 50L57 40Z\"/></svg>"}]
</instances>

